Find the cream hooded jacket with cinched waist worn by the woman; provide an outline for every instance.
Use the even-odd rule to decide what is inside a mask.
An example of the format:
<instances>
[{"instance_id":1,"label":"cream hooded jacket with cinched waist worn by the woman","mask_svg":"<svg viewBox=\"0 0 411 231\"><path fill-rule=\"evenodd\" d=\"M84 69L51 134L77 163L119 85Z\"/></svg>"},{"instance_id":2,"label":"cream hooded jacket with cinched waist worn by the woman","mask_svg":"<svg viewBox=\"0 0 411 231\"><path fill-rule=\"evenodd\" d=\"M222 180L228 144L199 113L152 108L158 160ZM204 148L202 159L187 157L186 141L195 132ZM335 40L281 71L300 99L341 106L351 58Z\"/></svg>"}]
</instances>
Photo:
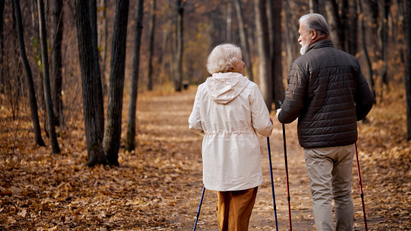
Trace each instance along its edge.
<instances>
[{"instance_id":1,"label":"cream hooded jacket with cinched waist worn by the woman","mask_svg":"<svg viewBox=\"0 0 411 231\"><path fill-rule=\"evenodd\" d=\"M262 183L258 135L273 130L256 83L236 72L215 73L199 85L191 131L203 135L203 182L214 191L251 189Z\"/></svg>"}]
</instances>

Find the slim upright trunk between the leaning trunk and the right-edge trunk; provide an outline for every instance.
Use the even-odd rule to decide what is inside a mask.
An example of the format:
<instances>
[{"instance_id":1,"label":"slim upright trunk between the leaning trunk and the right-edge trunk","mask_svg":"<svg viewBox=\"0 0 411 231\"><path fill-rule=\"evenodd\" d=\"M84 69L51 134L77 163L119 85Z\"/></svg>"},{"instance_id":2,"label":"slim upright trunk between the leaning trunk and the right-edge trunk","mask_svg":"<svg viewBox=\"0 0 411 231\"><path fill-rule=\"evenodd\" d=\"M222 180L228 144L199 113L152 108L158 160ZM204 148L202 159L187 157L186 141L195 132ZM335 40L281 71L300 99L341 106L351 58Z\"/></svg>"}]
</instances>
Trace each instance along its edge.
<instances>
[{"instance_id":1,"label":"slim upright trunk between the leaning trunk and the right-edge trunk","mask_svg":"<svg viewBox=\"0 0 411 231\"><path fill-rule=\"evenodd\" d=\"M384 0L383 19L382 19L382 84L388 85L387 77L387 49L388 49L388 14L390 12L390 0ZM382 92L381 92L382 93ZM382 94L381 94L382 95Z\"/></svg>"}]
</instances>

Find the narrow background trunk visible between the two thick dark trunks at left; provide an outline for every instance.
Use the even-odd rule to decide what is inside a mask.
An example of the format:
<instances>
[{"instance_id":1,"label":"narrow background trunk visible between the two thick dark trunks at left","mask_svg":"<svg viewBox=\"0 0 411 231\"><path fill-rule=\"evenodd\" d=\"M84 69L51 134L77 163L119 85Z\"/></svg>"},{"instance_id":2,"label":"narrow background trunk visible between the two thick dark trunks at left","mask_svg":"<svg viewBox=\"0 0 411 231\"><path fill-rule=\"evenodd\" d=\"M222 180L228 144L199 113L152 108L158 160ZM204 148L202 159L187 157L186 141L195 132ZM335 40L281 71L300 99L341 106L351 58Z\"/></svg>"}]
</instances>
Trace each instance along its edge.
<instances>
[{"instance_id":1,"label":"narrow background trunk visible between the two thick dark trunks at left","mask_svg":"<svg viewBox=\"0 0 411 231\"><path fill-rule=\"evenodd\" d=\"M100 27L99 27L99 46L102 49L101 55L101 83L103 85L103 95L107 93L107 81L105 81L105 61L107 60L107 41L108 41L108 27L107 27L107 17L105 13L107 11L106 0L100 1Z\"/></svg>"}]
</instances>

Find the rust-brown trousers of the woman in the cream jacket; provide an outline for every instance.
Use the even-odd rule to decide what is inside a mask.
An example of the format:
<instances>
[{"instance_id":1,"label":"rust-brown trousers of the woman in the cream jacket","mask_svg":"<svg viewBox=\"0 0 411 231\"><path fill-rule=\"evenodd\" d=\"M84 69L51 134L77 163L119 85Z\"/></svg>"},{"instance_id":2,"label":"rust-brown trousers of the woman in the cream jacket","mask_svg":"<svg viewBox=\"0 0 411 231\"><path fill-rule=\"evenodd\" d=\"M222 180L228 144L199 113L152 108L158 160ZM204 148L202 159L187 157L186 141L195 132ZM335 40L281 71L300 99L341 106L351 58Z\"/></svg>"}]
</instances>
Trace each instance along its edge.
<instances>
[{"instance_id":1,"label":"rust-brown trousers of the woman in the cream jacket","mask_svg":"<svg viewBox=\"0 0 411 231\"><path fill-rule=\"evenodd\" d=\"M220 230L248 230L257 189L217 191L217 217Z\"/></svg>"}]
</instances>

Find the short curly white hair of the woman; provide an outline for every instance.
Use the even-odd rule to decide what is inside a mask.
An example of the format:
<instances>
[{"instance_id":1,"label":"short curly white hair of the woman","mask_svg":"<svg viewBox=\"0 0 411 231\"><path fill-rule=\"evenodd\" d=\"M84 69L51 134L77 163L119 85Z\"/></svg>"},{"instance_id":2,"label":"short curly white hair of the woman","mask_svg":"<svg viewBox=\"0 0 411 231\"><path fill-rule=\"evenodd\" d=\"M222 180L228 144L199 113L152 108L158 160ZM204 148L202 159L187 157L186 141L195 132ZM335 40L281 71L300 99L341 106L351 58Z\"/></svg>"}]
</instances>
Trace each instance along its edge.
<instances>
[{"instance_id":1,"label":"short curly white hair of the woman","mask_svg":"<svg viewBox=\"0 0 411 231\"><path fill-rule=\"evenodd\" d=\"M241 57L241 49L234 44L220 44L208 55L207 70L210 74L229 72Z\"/></svg>"}]
</instances>

